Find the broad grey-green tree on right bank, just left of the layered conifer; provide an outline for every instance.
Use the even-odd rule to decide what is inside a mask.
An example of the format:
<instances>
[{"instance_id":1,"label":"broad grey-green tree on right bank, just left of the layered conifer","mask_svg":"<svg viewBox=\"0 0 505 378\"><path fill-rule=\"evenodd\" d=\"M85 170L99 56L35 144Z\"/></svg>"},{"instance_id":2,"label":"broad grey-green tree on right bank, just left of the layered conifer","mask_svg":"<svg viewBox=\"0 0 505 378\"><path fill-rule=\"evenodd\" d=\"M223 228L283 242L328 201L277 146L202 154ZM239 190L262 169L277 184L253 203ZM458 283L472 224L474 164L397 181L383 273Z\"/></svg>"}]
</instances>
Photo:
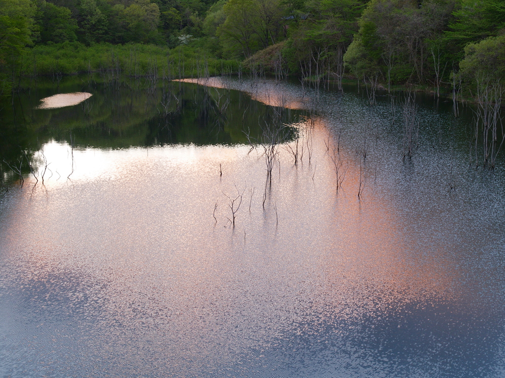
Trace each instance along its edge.
<instances>
[{"instance_id":1,"label":"broad grey-green tree on right bank, just left of the layered conifer","mask_svg":"<svg viewBox=\"0 0 505 378\"><path fill-rule=\"evenodd\" d=\"M439 47L439 37L447 30L453 7L452 0L425 0L421 4L414 0L372 0L352 43L361 43L366 59L380 69L388 85L427 80L439 83L434 67L443 66L447 57L435 46Z\"/></svg>"}]
</instances>

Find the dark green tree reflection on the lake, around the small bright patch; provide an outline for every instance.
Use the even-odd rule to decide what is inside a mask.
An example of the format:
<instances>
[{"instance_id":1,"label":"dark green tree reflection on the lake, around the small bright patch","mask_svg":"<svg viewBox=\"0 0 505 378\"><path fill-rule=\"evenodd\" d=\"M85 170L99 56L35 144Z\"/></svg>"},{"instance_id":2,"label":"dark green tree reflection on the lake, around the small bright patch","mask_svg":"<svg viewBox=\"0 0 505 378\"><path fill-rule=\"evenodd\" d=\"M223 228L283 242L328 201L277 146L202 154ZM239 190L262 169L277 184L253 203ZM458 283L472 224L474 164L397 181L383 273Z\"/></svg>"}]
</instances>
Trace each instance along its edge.
<instances>
[{"instance_id":1,"label":"dark green tree reflection on the lake, around the small bright patch","mask_svg":"<svg viewBox=\"0 0 505 378\"><path fill-rule=\"evenodd\" d=\"M141 81L129 84L118 87L66 78L61 93L87 91L93 96L59 109L36 109L39 98L55 94L50 81L16 97L14 106L2 114L2 177L19 178L36 171L33 152L51 140L76 148L246 144L243 130L260 136L261 125L278 112L227 88L164 81L152 90ZM289 123L297 115L285 114L282 122Z\"/></svg>"}]
</instances>

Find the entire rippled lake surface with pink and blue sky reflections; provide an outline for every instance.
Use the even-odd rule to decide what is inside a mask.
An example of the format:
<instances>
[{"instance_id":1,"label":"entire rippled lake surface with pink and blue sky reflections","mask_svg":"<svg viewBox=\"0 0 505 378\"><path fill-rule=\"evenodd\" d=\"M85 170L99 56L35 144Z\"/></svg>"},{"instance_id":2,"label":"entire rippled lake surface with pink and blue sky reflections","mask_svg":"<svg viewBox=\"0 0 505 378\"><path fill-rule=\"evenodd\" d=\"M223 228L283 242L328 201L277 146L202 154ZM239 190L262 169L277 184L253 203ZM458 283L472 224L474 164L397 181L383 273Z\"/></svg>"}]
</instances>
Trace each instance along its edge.
<instances>
[{"instance_id":1,"label":"entire rippled lake surface with pink and blue sky reflections","mask_svg":"<svg viewBox=\"0 0 505 378\"><path fill-rule=\"evenodd\" d=\"M2 110L0 376L505 376L505 161L469 168L469 109L418 96L403 160L386 96L208 84Z\"/></svg>"}]
</instances>

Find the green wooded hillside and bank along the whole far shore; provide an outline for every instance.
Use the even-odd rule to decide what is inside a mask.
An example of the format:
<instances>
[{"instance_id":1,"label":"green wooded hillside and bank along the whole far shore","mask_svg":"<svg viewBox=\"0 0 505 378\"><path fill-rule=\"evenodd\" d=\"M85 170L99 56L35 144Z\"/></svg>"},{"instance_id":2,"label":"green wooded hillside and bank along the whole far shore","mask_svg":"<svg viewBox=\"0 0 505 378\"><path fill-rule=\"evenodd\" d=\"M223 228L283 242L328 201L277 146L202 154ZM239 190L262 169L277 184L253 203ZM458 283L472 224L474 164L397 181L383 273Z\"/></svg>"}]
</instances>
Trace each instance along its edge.
<instances>
[{"instance_id":1,"label":"green wooded hillside and bank along the whole far shore","mask_svg":"<svg viewBox=\"0 0 505 378\"><path fill-rule=\"evenodd\" d=\"M475 95L505 77L505 1L0 0L0 65L4 95L20 76L225 66Z\"/></svg>"}]
</instances>

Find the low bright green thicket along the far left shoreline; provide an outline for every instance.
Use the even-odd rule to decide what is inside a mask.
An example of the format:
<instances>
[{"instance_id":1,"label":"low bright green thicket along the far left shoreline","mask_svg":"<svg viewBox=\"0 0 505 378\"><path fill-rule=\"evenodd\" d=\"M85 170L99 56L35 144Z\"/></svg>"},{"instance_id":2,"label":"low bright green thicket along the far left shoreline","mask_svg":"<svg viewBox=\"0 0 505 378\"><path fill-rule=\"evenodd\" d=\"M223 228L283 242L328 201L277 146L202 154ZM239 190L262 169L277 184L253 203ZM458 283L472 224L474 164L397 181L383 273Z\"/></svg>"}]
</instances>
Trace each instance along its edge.
<instances>
[{"instance_id":1,"label":"low bright green thicket along the far left shoreline","mask_svg":"<svg viewBox=\"0 0 505 378\"><path fill-rule=\"evenodd\" d=\"M235 73L237 60L219 59L204 41L169 49L164 46L131 43L99 43L85 46L78 42L38 45L23 56L22 76L62 76L87 72L113 72L129 77L201 77Z\"/></svg>"}]
</instances>

